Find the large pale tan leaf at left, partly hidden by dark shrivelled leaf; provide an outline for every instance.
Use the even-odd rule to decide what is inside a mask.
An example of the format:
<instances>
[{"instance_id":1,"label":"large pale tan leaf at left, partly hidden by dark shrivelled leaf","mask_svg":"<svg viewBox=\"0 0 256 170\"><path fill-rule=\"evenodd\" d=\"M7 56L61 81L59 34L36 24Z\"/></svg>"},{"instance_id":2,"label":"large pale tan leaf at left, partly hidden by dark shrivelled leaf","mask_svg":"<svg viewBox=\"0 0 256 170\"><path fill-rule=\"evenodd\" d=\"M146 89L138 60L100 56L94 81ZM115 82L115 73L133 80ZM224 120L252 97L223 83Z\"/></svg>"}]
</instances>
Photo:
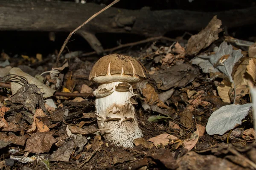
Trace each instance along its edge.
<instances>
[{"instance_id":1,"label":"large pale tan leaf at left, partly hidden by dark shrivelled leaf","mask_svg":"<svg viewBox=\"0 0 256 170\"><path fill-rule=\"evenodd\" d=\"M18 76L23 76L28 80L29 84L35 84L36 87L38 87L39 90L42 92L44 98L52 96L53 93L55 92L55 90L47 87L46 85L44 85L44 83L40 82L35 77L32 77L29 74L26 74L23 71L21 71L20 68L16 68L16 67L12 68L10 70L10 74L16 74ZM21 87L22 87L22 85L20 85L19 83L11 82L12 94L15 94Z\"/></svg>"}]
</instances>

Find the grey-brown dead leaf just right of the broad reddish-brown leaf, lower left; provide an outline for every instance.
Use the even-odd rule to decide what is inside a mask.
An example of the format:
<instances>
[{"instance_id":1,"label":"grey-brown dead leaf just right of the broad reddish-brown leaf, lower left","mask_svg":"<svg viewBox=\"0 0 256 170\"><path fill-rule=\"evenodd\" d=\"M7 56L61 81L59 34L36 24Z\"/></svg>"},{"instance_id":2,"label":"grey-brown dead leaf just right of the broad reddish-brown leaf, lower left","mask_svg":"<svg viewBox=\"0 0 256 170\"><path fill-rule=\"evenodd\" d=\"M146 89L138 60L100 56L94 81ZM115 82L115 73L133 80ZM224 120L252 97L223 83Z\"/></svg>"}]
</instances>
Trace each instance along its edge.
<instances>
[{"instance_id":1,"label":"grey-brown dead leaf just right of the broad reddish-brown leaf, lower left","mask_svg":"<svg viewBox=\"0 0 256 170\"><path fill-rule=\"evenodd\" d=\"M64 145L62 145L54 153L52 153L51 161L68 162L75 148L76 146L73 140L67 141Z\"/></svg>"}]
</instances>

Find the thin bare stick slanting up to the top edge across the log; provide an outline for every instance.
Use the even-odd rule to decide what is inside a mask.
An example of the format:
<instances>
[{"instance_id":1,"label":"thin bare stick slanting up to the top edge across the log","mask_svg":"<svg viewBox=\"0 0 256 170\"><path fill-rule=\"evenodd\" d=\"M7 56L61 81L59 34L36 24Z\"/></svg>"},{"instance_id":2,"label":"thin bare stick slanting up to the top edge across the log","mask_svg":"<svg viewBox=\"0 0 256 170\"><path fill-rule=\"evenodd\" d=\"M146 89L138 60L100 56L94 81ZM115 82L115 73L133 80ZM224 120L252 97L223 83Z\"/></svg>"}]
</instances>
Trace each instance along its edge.
<instances>
[{"instance_id":1,"label":"thin bare stick slanting up to the top edge across the log","mask_svg":"<svg viewBox=\"0 0 256 170\"><path fill-rule=\"evenodd\" d=\"M109 4L108 6L106 6L105 8L103 8L102 10L100 10L99 12L97 12L96 14L94 14L93 16L91 16L87 21L85 21L84 23L82 23L79 27L77 27L74 31L70 32L70 34L67 36L67 39L65 40L64 44L62 45L61 47L61 50L58 54L58 57L57 57L57 60L56 60L56 65L58 65L59 63L59 60L60 60L60 56L61 56L61 53L62 51L64 50L64 48L66 47L67 45L67 42L70 40L71 36L73 34L76 33L76 31L78 31L80 28L82 28L85 24L89 23L90 20L92 20L93 18L95 18L96 16L98 16L100 13L102 13L103 11L105 11L106 9L110 8L111 6L113 6L114 4L118 3L119 0L114 0L111 4Z\"/></svg>"}]
</instances>

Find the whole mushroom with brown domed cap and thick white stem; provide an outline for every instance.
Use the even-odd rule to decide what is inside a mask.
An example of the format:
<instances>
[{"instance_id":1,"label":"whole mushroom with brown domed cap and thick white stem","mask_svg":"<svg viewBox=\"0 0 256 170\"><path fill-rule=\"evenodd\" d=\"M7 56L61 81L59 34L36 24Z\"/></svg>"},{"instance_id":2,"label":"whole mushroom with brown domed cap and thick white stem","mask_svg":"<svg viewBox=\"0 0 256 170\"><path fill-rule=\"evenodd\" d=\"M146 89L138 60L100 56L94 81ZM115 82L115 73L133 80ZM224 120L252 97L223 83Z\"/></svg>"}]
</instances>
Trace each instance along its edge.
<instances>
[{"instance_id":1,"label":"whole mushroom with brown domed cap and thick white stem","mask_svg":"<svg viewBox=\"0 0 256 170\"><path fill-rule=\"evenodd\" d=\"M145 79L140 63L128 56L110 54L100 58L90 72L89 80L99 83L93 91L99 129L108 142L116 146L133 147L133 141L143 136L134 105L131 82Z\"/></svg>"}]
</instances>

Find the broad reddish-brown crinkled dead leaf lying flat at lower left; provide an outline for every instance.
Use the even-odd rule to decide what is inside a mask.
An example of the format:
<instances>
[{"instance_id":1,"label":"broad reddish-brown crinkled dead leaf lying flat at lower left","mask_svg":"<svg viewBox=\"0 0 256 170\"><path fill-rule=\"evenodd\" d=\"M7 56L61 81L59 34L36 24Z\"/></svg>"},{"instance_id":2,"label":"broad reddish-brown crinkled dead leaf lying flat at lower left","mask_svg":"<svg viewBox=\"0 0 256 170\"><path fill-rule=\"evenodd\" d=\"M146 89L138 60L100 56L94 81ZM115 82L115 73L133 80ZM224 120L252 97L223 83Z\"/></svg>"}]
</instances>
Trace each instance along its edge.
<instances>
[{"instance_id":1,"label":"broad reddish-brown crinkled dead leaf lying flat at lower left","mask_svg":"<svg viewBox=\"0 0 256 170\"><path fill-rule=\"evenodd\" d=\"M32 133L30 138L26 141L25 151L30 153L44 153L49 152L52 144L56 139L51 132L36 132Z\"/></svg>"}]
</instances>

